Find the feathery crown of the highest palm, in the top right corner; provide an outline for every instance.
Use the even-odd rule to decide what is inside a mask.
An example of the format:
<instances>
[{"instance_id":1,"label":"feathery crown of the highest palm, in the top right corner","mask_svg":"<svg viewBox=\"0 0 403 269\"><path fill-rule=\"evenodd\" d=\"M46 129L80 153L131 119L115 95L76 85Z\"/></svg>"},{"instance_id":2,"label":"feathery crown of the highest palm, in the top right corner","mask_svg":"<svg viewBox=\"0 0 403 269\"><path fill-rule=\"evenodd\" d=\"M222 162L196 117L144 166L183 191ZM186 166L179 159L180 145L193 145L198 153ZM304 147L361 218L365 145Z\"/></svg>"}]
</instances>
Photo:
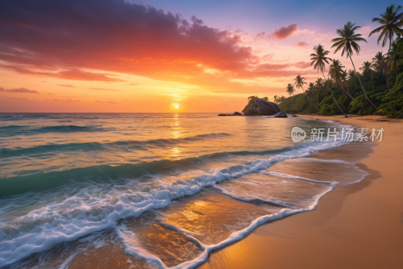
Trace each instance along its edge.
<instances>
[{"instance_id":1,"label":"feathery crown of the highest palm, in the top right corner","mask_svg":"<svg viewBox=\"0 0 403 269\"><path fill-rule=\"evenodd\" d=\"M381 16L380 18L372 18L372 22L378 22L383 25L370 32L368 37L371 37L371 35L382 31L378 38L378 45L379 41L381 41L383 37L382 46L384 47L389 39L389 49L391 49L394 34L399 36L403 33L403 31L400 29L400 27L403 26L403 13L398 14L398 11L401 8L402 7L400 5L397 6L396 9L394 4L390 5L386 7L385 13L379 14Z\"/></svg>"}]
</instances>

